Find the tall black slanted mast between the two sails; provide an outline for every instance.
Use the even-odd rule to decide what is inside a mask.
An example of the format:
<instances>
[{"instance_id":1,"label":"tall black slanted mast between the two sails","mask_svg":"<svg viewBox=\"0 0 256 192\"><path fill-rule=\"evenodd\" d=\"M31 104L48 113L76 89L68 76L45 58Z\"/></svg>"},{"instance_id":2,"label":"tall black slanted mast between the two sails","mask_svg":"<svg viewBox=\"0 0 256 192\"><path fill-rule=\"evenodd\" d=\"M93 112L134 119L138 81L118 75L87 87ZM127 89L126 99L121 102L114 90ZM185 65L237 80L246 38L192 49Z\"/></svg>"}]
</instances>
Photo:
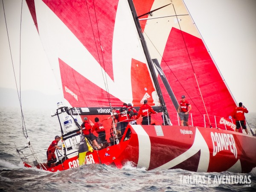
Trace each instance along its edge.
<instances>
[{"instance_id":1,"label":"tall black slanted mast between the two sails","mask_svg":"<svg viewBox=\"0 0 256 192\"><path fill-rule=\"evenodd\" d=\"M163 113L167 116L168 119L170 119L168 111L167 111L167 108L166 108L166 105L165 105L165 102L164 102L164 99L163 99L163 94L162 94L162 91L160 89L160 85L159 85L159 83L157 81L157 75L156 75L156 73L154 71L154 64L153 64L153 62L151 60L151 57L149 55L148 47L147 47L145 38L144 38L142 30L141 30L140 21L138 19L137 12L135 10L133 1L132 0L128 0L128 3L129 3L129 6L130 6L130 9L131 9L132 16L134 18L134 23L136 25L138 34L140 36L140 41L141 41L141 44L142 44L142 47L143 47L143 51L144 51L145 56L146 56L146 60L148 62L148 67L149 67L151 76L153 78L154 85L155 85L156 90L157 90L157 94L159 96L160 103L161 103L161 105L163 107Z\"/></svg>"}]
</instances>

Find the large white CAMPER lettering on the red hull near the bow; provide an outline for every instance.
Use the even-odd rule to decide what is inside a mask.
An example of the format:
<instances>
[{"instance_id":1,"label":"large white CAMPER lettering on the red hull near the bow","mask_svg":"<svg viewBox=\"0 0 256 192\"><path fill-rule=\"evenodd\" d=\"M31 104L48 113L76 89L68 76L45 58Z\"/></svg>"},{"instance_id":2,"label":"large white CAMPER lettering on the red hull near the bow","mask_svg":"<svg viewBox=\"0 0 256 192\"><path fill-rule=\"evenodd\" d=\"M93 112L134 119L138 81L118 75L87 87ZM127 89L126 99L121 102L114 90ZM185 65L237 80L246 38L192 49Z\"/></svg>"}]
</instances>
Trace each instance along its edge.
<instances>
[{"instance_id":1,"label":"large white CAMPER lettering on the red hull near the bow","mask_svg":"<svg viewBox=\"0 0 256 192\"><path fill-rule=\"evenodd\" d=\"M211 132L211 137L213 145L212 156L215 156L220 151L229 150L237 157L236 142L232 134Z\"/></svg>"}]
</instances>

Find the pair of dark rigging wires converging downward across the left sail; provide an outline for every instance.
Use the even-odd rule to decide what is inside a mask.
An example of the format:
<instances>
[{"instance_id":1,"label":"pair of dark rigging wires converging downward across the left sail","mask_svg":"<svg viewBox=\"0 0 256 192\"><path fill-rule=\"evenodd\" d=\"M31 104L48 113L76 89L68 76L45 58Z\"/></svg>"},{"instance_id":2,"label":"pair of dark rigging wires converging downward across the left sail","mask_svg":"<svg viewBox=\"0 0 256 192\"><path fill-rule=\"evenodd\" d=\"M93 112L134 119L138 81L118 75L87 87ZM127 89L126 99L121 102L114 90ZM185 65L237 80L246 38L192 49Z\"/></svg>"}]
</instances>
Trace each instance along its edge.
<instances>
[{"instance_id":1,"label":"pair of dark rigging wires converging downward across the left sail","mask_svg":"<svg viewBox=\"0 0 256 192\"><path fill-rule=\"evenodd\" d=\"M101 65L101 59L100 59L99 50L98 50L98 47L97 47L97 44L96 44L96 36L95 36L94 31L93 31L93 24L92 24L92 20L91 20L91 17L90 17L90 12L89 12L89 8L88 8L87 0L86 0L86 6L87 6L87 12L88 12L88 15L89 15L89 19L90 19L91 29L92 29L92 32L93 32L93 38L94 38L94 42L95 42L95 47L96 47L96 50L97 50L97 53L98 53L99 64ZM101 51L102 64L103 64L103 68L105 70L105 76L104 76L104 72L103 72L102 67L101 67L102 77L103 77L103 81L104 81L104 84L105 84L105 89L106 89L106 92L107 92L108 102L109 102L109 105L111 107L110 94L109 94L109 90L108 90L107 73L106 73L105 62L104 62L104 57L103 57L103 53L102 53L103 49L102 49L102 45L101 45L101 41L100 41L99 26L98 26L98 22L97 22L97 16L96 16L96 11L95 11L94 0L93 0L93 10L94 10L95 18L96 18L96 26L97 26L97 32L98 32L98 37L99 37L99 44L100 44L100 47L101 47L101 50L102 50ZM111 107L111 109L112 109L112 107Z\"/></svg>"}]
</instances>

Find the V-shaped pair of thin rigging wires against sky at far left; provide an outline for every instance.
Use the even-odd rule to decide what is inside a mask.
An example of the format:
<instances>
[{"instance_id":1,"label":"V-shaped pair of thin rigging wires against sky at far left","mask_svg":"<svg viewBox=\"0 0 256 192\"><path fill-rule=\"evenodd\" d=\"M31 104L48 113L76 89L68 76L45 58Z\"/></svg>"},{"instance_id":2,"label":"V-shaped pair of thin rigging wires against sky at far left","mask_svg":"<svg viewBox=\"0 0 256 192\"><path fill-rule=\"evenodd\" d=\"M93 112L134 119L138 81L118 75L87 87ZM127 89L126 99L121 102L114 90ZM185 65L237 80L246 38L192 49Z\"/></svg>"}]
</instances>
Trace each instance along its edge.
<instances>
[{"instance_id":1,"label":"V-shaped pair of thin rigging wires against sky at far left","mask_svg":"<svg viewBox=\"0 0 256 192\"><path fill-rule=\"evenodd\" d=\"M2 0L2 3L3 3L3 0ZM23 5L23 0L21 1L21 13L20 13L20 47L21 47L22 5ZM20 75L20 78L19 78L19 87L20 87L20 89L18 89L17 79L16 79L16 75L15 75L15 69L14 69L14 64L13 64L13 59L12 59L12 50L11 50L11 45L10 45L10 39L9 39L9 33L8 33L7 22L6 22L6 14L5 14L5 9L4 9L4 4L3 4L3 14L4 14L5 23L6 23L6 32L7 32L8 43L9 43L9 49L10 49L10 54L11 54L12 69L13 69L13 74L14 74L14 78L15 78L15 85L16 85L16 90L17 90L17 94L18 94L18 99L19 99L19 102L20 102L22 130L23 130L24 137L27 139L27 138L28 138L28 134L27 134L27 131L26 131L25 119L24 119L24 115L23 115L23 111L22 111L22 102L21 102L21 73L19 73L19 75ZM20 48L20 50L21 50L21 48ZM21 56L19 55L19 60L20 60L20 57L21 57ZM20 61L19 61L19 71L21 71L21 64L20 64ZM25 133L26 133L26 134L25 134Z\"/></svg>"}]
</instances>

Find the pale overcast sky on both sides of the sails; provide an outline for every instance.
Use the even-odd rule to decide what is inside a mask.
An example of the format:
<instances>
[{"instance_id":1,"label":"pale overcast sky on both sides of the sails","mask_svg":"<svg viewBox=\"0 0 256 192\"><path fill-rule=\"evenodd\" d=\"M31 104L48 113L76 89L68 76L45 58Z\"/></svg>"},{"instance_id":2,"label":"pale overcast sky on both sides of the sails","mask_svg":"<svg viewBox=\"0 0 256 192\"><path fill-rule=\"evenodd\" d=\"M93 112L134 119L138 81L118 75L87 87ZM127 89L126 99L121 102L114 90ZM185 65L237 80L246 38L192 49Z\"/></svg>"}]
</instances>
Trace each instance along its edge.
<instances>
[{"instance_id":1,"label":"pale overcast sky on both sides of the sails","mask_svg":"<svg viewBox=\"0 0 256 192\"><path fill-rule=\"evenodd\" d=\"M60 93L25 2L21 78L21 0L3 1L6 21L0 3L0 87L16 89L13 62L17 82L21 79L21 90ZM256 112L256 0L185 0L185 3L236 102L243 102L249 112Z\"/></svg>"}]
</instances>

